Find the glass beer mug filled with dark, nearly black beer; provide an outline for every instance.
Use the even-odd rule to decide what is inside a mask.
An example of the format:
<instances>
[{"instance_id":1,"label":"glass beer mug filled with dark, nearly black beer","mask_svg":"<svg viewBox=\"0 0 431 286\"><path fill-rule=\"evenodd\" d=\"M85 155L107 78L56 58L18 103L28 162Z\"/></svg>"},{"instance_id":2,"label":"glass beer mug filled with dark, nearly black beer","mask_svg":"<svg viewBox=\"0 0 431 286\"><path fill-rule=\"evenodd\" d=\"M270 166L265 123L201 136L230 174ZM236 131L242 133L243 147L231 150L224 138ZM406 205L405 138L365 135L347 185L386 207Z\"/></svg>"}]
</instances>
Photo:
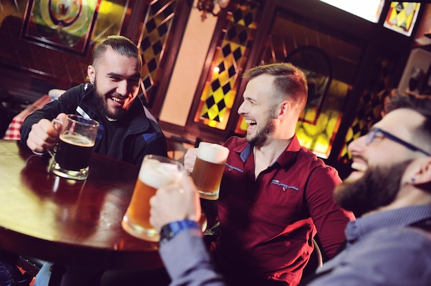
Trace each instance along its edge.
<instances>
[{"instance_id":1,"label":"glass beer mug filled with dark, nearly black beer","mask_svg":"<svg viewBox=\"0 0 431 286\"><path fill-rule=\"evenodd\" d=\"M61 131L56 151L48 151L52 156L50 172L67 179L87 179L98 122L67 114L65 120L54 119L52 124L61 125Z\"/></svg>"}]
</instances>

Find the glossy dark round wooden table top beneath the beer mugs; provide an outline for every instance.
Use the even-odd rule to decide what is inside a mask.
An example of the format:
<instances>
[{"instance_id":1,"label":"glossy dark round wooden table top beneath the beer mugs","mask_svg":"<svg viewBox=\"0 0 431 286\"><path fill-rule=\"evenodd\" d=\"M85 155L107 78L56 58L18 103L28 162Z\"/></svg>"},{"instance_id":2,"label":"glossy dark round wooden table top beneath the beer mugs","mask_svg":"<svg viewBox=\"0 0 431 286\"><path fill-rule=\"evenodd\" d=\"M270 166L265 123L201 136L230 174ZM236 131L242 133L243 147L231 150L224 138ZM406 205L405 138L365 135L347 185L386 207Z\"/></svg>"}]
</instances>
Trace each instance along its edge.
<instances>
[{"instance_id":1,"label":"glossy dark round wooden table top beneath the beer mugs","mask_svg":"<svg viewBox=\"0 0 431 286\"><path fill-rule=\"evenodd\" d=\"M161 267L158 243L121 227L139 168L94 153L88 179L48 172L49 155L0 140L0 248L63 265Z\"/></svg>"}]
</instances>

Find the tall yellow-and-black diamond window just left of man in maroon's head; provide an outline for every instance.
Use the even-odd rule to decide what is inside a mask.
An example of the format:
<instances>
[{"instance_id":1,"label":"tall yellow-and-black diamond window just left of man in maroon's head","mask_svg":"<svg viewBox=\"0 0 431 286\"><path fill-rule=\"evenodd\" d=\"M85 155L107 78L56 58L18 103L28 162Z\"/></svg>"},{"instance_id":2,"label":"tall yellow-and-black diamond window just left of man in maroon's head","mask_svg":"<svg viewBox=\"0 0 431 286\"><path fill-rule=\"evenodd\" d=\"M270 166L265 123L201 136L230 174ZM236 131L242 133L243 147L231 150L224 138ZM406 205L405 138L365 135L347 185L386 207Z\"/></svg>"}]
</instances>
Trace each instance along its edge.
<instances>
[{"instance_id":1,"label":"tall yellow-and-black diamond window just left of man in maroon's head","mask_svg":"<svg viewBox=\"0 0 431 286\"><path fill-rule=\"evenodd\" d=\"M238 75L246 63L257 28L259 6L257 3L238 4L229 12L229 23L211 63L194 122L226 129L238 88Z\"/></svg>"}]
</instances>

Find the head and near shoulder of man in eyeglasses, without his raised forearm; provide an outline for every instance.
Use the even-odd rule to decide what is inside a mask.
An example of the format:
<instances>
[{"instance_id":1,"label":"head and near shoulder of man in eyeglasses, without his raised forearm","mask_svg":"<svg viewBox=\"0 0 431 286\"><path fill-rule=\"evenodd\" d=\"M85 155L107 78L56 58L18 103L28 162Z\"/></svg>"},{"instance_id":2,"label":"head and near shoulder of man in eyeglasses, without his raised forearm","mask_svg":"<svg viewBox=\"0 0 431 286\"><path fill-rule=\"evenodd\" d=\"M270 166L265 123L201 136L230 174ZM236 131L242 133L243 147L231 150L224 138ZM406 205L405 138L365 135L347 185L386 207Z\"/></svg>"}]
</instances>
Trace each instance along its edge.
<instances>
[{"instance_id":1,"label":"head and near shoulder of man in eyeglasses, without his raised forearm","mask_svg":"<svg viewBox=\"0 0 431 286\"><path fill-rule=\"evenodd\" d=\"M353 173L337 186L346 247L304 285L431 283L431 100L399 96L352 142Z\"/></svg>"}]
</instances>

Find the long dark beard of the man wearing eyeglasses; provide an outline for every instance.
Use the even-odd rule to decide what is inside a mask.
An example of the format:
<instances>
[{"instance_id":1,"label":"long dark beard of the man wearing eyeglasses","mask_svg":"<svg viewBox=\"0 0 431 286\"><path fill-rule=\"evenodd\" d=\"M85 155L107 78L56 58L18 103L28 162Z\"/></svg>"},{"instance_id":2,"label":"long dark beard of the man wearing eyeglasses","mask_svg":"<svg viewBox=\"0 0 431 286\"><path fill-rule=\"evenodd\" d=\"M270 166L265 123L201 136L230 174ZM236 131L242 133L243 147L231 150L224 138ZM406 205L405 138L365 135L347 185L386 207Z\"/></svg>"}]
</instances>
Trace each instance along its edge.
<instances>
[{"instance_id":1,"label":"long dark beard of the man wearing eyeglasses","mask_svg":"<svg viewBox=\"0 0 431 286\"><path fill-rule=\"evenodd\" d=\"M369 168L356 181L344 182L335 187L335 201L357 217L388 206L397 197L401 177L410 162L407 160L388 167Z\"/></svg>"}]
</instances>

